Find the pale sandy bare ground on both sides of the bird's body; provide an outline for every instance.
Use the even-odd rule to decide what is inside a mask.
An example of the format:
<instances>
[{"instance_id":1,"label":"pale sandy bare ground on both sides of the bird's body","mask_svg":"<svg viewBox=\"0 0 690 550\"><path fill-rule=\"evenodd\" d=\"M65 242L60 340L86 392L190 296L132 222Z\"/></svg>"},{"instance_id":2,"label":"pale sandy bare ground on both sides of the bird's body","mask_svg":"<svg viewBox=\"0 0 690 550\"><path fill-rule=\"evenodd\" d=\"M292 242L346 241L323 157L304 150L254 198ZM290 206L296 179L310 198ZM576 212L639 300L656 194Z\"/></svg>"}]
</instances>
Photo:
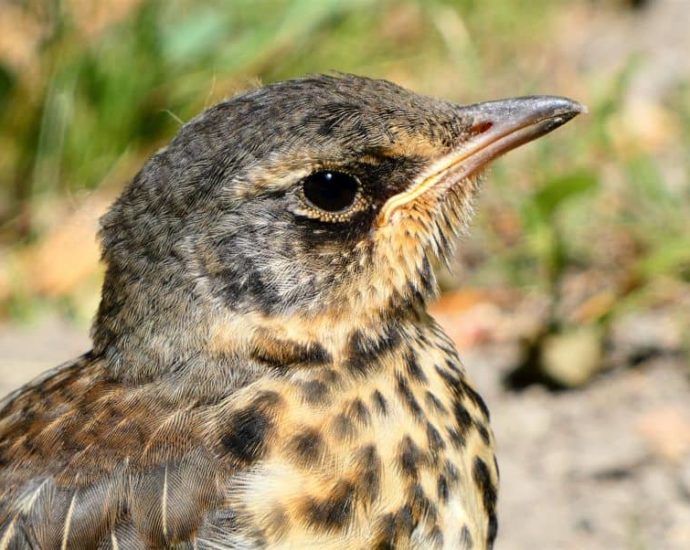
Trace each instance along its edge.
<instances>
[{"instance_id":1,"label":"pale sandy bare ground on both sides of the bird's body","mask_svg":"<svg viewBox=\"0 0 690 550\"><path fill-rule=\"evenodd\" d=\"M451 328L451 327L449 327ZM61 321L0 327L0 393L87 350ZM690 379L680 358L583 390L506 390L511 344L463 353L492 411L501 467L496 548L690 548Z\"/></svg>"}]
</instances>

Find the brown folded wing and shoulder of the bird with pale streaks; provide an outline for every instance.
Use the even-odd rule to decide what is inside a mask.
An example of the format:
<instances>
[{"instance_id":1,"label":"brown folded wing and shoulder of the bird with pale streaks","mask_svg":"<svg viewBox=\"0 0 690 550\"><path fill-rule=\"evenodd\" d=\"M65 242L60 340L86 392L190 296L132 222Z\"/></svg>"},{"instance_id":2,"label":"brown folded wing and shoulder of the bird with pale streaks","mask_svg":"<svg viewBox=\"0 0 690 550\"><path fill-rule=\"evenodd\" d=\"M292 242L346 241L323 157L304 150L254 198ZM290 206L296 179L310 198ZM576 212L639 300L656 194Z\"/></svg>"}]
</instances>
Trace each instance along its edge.
<instances>
[{"instance_id":1,"label":"brown folded wing and shoulder of the bird with pale streaks","mask_svg":"<svg viewBox=\"0 0 690 550\"><path fill-rule=\"evenodd\" d=\"M169 547L226 532L222 487L242 467L216 436L227 408L114 380L90 354L14 392L0 409L0 548Z\"/></svg>"}]
</instances>

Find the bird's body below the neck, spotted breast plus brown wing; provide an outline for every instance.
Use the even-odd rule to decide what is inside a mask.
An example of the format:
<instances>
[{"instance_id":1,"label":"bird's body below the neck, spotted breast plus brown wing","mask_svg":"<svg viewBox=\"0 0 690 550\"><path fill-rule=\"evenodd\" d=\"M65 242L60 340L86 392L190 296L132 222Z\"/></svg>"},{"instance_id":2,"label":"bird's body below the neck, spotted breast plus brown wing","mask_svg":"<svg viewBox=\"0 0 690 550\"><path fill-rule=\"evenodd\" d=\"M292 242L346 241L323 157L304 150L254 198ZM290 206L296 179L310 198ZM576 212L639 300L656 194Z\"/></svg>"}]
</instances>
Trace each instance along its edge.
<instances>
[{"instance_id":1,"label":"bird's body below the neck, spotted breast plus brown wing","mask_svg":"<svg viewBox=\"0 0 690 550\"><path fill-rule=\"evenodd\" d=\"M190 369L206 399L91 357L24 388L0 419L0 549L490 546L488 412L445 335L390 323L297 351Z\"/></svg>"}]
</instances>

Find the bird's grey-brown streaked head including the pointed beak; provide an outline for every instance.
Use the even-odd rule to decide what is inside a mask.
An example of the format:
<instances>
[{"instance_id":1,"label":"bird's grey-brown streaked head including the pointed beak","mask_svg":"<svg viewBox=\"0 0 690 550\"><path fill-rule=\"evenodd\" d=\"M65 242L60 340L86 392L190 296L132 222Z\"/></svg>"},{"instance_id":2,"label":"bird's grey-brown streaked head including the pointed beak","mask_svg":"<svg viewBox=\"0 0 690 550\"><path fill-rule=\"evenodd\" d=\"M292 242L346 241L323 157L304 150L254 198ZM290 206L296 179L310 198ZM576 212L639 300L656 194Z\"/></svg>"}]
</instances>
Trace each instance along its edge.
<instances>
[{"instance_id":1,"label":"bird's grey-brown streaked head including the pointed beak","mask_svg":"<svg viewBox=\"0 0 690 550\"><path fill-rule=\"evenodd\" d=\"M556 97L463 106L355 76L216 105L104 217L96 345L129 334L174 349L175 333L222 348L270 327L327 337L419 309L482 169L582 110Z\"/></svg>"}]
</instances>

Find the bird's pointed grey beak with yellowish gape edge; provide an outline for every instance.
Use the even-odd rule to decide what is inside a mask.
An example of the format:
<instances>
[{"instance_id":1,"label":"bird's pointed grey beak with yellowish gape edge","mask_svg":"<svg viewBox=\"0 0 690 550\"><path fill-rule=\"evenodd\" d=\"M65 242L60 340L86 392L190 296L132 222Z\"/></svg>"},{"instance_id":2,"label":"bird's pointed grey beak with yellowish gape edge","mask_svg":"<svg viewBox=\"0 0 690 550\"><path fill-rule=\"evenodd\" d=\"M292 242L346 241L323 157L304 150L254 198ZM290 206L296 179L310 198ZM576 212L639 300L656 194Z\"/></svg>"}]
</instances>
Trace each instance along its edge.
<instances>
[{"instance_id":1,"label":"bird's pointed grey beak with yellowish gape edge","mask_svg":"<svg viewBox=\"0 0 690 550\"><path fill-rule=\"evenodd\" d=\"M565 97L529 96L458 106L458 118L469 122L456 149L436 161L409 189L383 206L383 223L401 206L440 182L459 182L495 158L562 126L587 108ZM467 124L463 124L468 127Z\"/></svg>"}]
</instances>

